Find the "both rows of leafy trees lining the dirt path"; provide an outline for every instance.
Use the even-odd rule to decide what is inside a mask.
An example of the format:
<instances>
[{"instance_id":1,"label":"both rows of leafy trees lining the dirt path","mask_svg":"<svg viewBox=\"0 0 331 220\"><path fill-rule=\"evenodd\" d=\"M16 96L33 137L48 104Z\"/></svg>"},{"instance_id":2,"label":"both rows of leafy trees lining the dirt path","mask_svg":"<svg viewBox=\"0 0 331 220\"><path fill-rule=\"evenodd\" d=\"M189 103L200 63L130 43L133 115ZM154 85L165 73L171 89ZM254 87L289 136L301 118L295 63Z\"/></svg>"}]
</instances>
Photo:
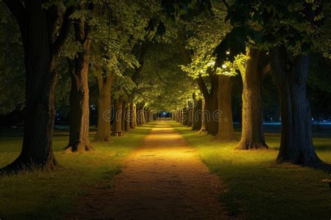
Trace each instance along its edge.
<instances>
[{"instance_id":1,"label":"both rows of leafy trees lining the dirt path","mask_svg":"<svg viewBox=\"0 0 331 220\"><path fill-rule=\"evenodd\" d=\"M10 79L25 84L25 89L16 91L25 96L20 101L25 114L22 152L2 173L57 166L52 153L55 106L69 106L66 150L71 152L93 148L89 141L91 103L98 108L96 141L108 142L111 133L122 136L135 122L142 124L139 119L143 117L136 114L144 115L144 110L147 115L152 110L174 111L189 100L196 103L190 105L194 108L189 107L189 114L201 108L211 114L221 112L221 120L205 119L203 114L197 121L186 122L188 125L216 135L220 141L234 140L232 101L238 74L242 79L242 138L237 148L267 147L261 88L265 75L271 74L279 91L282 121L277 160L327 167L314 152L306 87L311 53L330 58L328 47L321 43L330 43L330 24L325 20L328 3L1 3L6 5L1 7L5 36L1 43L13 43L16 49L13 58L1 59L10 62L1 65L13 73ZM13 38L6 37L8 34ZM11 83L20 85L18 80ZM112 129L106 117L109 113L115 116ZM175 115L179 118L181 114Z\"/></svg>"}]
</instances>

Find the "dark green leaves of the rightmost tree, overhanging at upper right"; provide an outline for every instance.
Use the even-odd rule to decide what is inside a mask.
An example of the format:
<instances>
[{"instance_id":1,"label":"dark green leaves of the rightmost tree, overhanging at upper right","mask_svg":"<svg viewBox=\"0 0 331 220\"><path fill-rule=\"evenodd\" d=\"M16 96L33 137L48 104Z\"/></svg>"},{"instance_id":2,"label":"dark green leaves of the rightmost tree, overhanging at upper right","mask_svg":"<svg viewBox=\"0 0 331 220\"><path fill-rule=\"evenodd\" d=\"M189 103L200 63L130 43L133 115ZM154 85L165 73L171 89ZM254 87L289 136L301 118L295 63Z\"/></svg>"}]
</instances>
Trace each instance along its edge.
<instances>
[{"instance_id":1,"label":"dark green leaves of the rightmost tree, overhanging at upper right","mask_svg":"<svg viewBox=\"0 0 331 220\"><path fill-rule=\"evenodd\" d=\"M311 52L314 45L312 38L318 34L313 21L321 20L326 10L321 1L310 0L306 3L300 0L229 2L226 19L233 25L233 31L215 50L219 64L225 58L224 50L233 50L236 54L242 50L243 41L252 43L260 50L285 45L294 56Z\"/></svg>"}]
</instances>

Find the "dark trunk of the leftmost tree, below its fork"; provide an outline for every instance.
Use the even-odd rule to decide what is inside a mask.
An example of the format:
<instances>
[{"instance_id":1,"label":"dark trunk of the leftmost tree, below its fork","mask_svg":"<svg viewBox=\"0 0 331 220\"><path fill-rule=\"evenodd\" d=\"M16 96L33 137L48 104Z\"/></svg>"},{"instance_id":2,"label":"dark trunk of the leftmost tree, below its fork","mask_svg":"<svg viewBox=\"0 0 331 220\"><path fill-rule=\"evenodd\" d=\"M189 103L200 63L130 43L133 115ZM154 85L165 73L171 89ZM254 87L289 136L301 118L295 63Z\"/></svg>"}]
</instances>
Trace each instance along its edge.
<instances>
[{"instance_id":1,"label":"dark trunk of the leftmost tree, below its fork","mask_svg":"<svg viewBox=\"0 0 331 220\"><path fill-rule=\"evenodd\" d=\"M45 25L43 21L33 17L30 20L36 22L36 25L42 27ZM35 39L24 45L27 80L22 151L20 156L13 163L2 168L0 173L17 173L20 170L41 167L53 169L57 165L52 152L56 56L50 54L47 32L45 31L44 36L36 31L38 27L33 28L34 31L31 32L36 34ZM29 48L25 48L27 46Z\"/></svg>"}]
</instances>

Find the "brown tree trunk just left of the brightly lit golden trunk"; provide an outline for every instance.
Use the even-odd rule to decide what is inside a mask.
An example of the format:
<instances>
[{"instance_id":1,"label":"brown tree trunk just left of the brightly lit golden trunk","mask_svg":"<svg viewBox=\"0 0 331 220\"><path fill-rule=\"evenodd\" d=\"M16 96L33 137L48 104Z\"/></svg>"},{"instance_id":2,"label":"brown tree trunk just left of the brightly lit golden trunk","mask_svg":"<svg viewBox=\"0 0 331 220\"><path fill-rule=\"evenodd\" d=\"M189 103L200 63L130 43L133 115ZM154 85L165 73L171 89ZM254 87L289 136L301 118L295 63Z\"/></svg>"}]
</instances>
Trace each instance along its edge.
<instances>
[{"instance_id":1,"label":"brown tree trunk just left of the brightly lit golden trunk","mask_svg":"<svg viewBox=\"0 0 331 220\"><path fill-rule=\"evenodd\" d=\"M219 75L219 132L216 135L217 140L235 140L235 129L233 128L233 115L231 105L231 79L226 75Z\"/></svg>"}]
</instances>

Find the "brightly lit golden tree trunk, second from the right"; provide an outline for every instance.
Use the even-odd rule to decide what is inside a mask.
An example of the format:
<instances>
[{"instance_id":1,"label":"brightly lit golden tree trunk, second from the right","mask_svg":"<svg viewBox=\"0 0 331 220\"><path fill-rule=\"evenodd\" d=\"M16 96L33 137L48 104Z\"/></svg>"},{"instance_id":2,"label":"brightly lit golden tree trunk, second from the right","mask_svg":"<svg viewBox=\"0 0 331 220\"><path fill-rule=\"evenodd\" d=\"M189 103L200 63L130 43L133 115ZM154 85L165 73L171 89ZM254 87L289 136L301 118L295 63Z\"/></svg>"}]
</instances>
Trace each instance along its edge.
<instances>
[{"instance_id":1,"label":"brightly lit golden tree trunk, second from the right","mask_svg":"<svg viewBox=\"0 0 331 220\"><path fill-rule=\"evenodd\" d=\"M247 61L242 75L242 138L237 149L267 148L263 135L262 74L258 64L260 52L247 50Z\"/></svg>"}]
</instances>

